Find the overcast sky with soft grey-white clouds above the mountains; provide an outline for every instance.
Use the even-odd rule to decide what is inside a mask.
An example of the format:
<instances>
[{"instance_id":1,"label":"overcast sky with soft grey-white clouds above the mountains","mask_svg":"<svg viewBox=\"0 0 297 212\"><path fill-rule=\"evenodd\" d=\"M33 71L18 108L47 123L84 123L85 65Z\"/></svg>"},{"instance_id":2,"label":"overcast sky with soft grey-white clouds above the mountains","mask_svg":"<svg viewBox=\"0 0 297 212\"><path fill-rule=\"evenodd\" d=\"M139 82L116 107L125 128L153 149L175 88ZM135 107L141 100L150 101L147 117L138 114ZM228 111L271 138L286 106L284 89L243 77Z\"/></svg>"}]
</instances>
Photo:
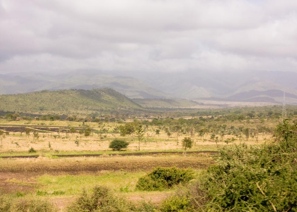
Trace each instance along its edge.
<instances>
[{"instance_id":1,"label":"overcast sky with soft grey-white clouds above the mountains","mask_svg":"<svg viewBox=\"0 0 297 212\"><path fill-rule=\"evenodd\" d=\"M0 73L297 71L296 0L0 0Z\"/></svg>"}]
</instances>

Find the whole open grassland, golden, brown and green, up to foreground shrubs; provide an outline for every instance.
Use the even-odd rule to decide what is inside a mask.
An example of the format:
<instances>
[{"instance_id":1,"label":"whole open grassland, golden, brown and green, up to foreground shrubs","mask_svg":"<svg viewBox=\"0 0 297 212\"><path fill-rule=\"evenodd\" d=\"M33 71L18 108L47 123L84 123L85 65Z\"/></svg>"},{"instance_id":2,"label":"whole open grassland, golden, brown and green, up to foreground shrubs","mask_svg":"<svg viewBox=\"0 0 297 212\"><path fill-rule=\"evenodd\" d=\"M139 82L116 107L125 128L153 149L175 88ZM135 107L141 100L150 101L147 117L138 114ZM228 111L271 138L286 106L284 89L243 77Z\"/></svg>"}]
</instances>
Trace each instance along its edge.
<instances>
[{"instance_id":1,"label":"whole open grassland, golden, brown and green, up to foreground shrubs","mask_svg":"<svg viewBox=\"0 0 297 212\"><path fill-rule=\"evenodd\" d=\"M224 123L230 126L253 127L258 120L233 121ZM265 123L273 127L271 122ZM168 197L175 188L163 191L137 191L135 185L139 177L155 167L192 168L196 174L205 170L213 161L213 152L218 146L227 145L222 141L217 144L211 142L211 134L199 137L193 136L194 144L186 154L182 155L181 141L189 134L174 133L168 137L161 130L155 134L157 126L148 126L138 151L138 140L135 136L122 137L113 129L118 123L105 123L108 129L105 136L95 133L102 125L70 121L5 121L0 120L0 128L8 131L2 139L0 149L0 193L13 198L41 198L53 202L60 211L75 200L82 189L91 190L95 185L104 185L111 189L118 197L133 202L141 200L159 204ZM89 136L84 134L66 133L63 129L90 127ZM24 129L35 131L26 134ZM38 135L36 136L36 132ZM249 137L248 144L261 144L269 141L272 134L259 133L256 137ZM129 142L124 151L112 151L109 143L115 137ZM234 137L225 135L224 139ZM237 139L235 143L244 142ZM75 141L78 141L78 143ZM29 148L36 152L29 153ZM56 155L98 154L98 157L58 157ZM118 154L118 155L117 155ZM128 154L122 156L121 154ZM99 156L100 155L100 156ZM5 158L7 156L35 156L34 158Z\"/></svg>"}]
</instances>

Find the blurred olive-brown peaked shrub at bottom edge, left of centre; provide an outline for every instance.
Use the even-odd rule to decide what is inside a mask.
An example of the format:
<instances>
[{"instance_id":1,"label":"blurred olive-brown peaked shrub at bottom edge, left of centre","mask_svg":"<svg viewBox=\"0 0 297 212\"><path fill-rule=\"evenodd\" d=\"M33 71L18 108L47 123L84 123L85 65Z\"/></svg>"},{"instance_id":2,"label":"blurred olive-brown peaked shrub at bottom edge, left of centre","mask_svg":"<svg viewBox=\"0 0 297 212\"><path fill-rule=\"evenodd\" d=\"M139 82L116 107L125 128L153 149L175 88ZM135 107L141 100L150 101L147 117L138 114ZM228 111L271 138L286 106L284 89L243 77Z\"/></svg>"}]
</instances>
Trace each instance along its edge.
<instances>
[{"instance_id":1,"label":"blurred olive-brown peaked shrub at bottom edge, left of centre","mask_svg":"<svg viewBox=\"0 0 297 212\"><path fill-rule=\"evenodd\" d=\"M68 207L68 212L128 212L136 208L126 200L115 198L110 191L102 186L96 186L92 194L88 195L84 190L78 199Z\"/></svg>"}]
</instances>

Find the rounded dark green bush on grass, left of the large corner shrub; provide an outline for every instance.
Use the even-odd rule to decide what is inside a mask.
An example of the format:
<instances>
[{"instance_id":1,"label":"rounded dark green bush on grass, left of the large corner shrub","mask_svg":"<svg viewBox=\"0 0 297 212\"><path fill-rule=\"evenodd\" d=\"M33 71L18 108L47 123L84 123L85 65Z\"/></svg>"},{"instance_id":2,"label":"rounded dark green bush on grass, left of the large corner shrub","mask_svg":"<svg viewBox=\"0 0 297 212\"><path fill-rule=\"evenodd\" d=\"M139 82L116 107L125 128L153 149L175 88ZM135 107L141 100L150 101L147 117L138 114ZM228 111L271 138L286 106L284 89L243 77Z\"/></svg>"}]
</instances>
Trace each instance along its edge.
<instances>
[{"instance_id":1,"label":"rounded dark green bush on grass, left of the large corner shrub","mask_svg":"<svg viewBox=\"0 0 297 212\"><path fill-rule=\"evenodd\" d=\"M192 169L179 169L177 167L157 167L151 173L139 178L136 189L138 190L163 190L174 185L185 183L194 178Z\"/></svg>"}]
</instances>

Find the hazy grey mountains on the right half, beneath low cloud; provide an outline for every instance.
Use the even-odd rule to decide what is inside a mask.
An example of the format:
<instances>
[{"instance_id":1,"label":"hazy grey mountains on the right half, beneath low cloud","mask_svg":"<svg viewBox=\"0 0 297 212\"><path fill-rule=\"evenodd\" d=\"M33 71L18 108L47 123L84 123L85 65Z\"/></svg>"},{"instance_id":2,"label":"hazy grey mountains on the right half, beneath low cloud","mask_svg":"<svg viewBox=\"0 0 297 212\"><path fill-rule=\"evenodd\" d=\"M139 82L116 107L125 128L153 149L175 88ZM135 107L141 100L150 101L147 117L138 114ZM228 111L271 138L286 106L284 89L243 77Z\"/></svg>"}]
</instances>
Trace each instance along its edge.
<instances>
[{"instance_id":1,"label":"hazy grey mountains on the right half, beneath low cloud","mask_svg":"<svg viewBox=\"0 0 297 212\"><path fill-rule=\"evenodd\" d=\"M133 73L154 88L175 98L225 98L251 90L281 90L297 94L297 73L279 71L211 72L186 71L175 73Z\"/></svg>"}]
</instances>

